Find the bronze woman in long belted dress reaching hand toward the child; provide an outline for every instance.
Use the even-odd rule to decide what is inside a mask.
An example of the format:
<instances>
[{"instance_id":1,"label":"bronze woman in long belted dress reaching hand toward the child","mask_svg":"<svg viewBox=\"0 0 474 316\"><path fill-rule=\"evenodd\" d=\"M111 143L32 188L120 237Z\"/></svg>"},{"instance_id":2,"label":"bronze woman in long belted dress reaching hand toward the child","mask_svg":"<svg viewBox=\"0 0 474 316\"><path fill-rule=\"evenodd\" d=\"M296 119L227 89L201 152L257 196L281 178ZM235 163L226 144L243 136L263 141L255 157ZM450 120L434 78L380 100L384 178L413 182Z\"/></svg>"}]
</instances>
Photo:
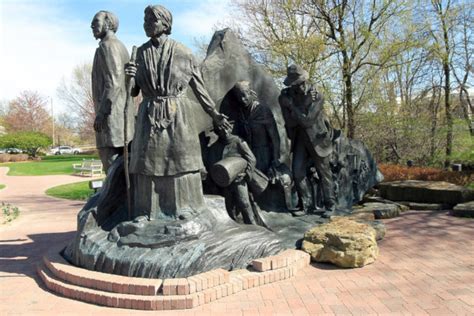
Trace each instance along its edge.
<instances>
[{"instance_id":1,"label":"bronze woman in long belted dress reaching hand toward the child","mask_svg":"<svg viewBox=\"0 0 474 316\"><path fill-rule=\"evenodd\" d=\"M130 153L133 215L149 219L186 218L204 205L203 168L195 101L218 125L228 125L215 109L190 50L170 39L172 15L163 6L145 8L143 28L150 38L138 48L126 73L135 77L132 95L141 102ZM193 108L194 107L194 108Z\"/></svg>"}]
</instances>

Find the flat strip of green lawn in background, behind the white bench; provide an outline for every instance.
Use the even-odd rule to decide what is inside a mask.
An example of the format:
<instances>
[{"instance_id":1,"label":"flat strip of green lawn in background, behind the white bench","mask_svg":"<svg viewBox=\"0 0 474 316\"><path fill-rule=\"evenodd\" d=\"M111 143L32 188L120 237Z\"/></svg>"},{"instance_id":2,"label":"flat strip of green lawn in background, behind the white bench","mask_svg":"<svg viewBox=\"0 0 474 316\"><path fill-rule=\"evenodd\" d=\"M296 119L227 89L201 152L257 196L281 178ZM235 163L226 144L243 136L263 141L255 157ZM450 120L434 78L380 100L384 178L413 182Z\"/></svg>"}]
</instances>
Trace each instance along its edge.
<instances>
[{"instance_id":1,"label":"flat strip of green lawn in background, behind the white bench","mask_svg":"<svg viewBox=\"0 0 474 316\"><path fill-rule=\"evenodd\" d=\"M72 164L81 163L83 159L98 159L93 155L45 156L41 161L6 162L0 164L9 167L9 176L45 176L55 174L72 174Z\"/></svg>"}]
</instances>

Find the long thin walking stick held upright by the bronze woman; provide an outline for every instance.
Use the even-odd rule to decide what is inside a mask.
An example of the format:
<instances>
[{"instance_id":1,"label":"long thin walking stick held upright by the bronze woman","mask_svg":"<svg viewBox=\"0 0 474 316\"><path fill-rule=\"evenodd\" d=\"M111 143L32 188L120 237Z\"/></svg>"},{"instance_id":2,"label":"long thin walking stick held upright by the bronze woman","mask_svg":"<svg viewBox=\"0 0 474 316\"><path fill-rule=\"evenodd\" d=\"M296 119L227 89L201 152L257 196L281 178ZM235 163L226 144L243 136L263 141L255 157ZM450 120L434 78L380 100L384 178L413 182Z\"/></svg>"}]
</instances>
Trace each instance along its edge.
<instances>
[{"instance_id":1,"label":"long thin walking stick held upright by the bronze woman","mask_svg":"<svg viewBox=\"0 0 474 316\"><path fill-rule=\"evenodd\" d=\"M137 59L137 47L132 47L132 56L130 58L130 64L135 64ZM124 109L124 128L123 128L123 137L124 137L124 146L123 146L123 171L125 173L125 186L127 189L127 206L128 206L128 219L132 220L132 198L130 196L130 173L128 172L128 107L129 102L133 102L132 98L132 88L135 84L134 77L127 78L127 100L125 102Z\"/></svg>"}]
</instances>

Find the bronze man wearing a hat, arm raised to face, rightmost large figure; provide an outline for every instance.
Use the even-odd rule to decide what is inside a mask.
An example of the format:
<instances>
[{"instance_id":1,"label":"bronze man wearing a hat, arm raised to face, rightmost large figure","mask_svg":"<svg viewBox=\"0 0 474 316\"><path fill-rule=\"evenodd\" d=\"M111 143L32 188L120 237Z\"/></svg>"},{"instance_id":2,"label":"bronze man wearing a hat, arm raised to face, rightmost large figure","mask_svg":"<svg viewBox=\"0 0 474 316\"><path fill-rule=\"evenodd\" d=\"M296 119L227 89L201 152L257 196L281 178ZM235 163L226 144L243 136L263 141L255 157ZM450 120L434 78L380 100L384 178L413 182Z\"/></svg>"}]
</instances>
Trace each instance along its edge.
<instances>
[{"instance_id":1,"label":"bronze man wearing a hat, arm raised to face, rightmost large figure","mask_svg":"<svg viewBox=\"0 0 474 316\"><path fill-rule=\"evenodd\" d=\"M308 167L314 165L326 208L323 216L329 217L336 202L329 165L329 155L332 152L331 128L323 112L324 99L308 83L308 79L308 73L304 69L291 65L283 82L288 88L283 89L279 97L286 131L292 144L293 178L300 203L300 212L295 215L308 213L316 207L307 179Z\"/></svg>"}]
</instances>

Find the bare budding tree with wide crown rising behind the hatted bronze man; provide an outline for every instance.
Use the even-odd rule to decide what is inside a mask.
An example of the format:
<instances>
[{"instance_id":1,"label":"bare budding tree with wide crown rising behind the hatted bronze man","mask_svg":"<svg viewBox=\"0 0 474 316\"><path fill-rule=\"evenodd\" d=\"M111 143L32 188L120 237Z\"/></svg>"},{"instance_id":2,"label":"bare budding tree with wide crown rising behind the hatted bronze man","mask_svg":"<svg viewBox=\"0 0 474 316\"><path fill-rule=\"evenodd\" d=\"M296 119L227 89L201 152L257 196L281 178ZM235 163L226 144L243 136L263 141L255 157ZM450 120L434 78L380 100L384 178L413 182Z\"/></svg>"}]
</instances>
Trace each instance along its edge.
<instances>
[{"instance_id":1,"label":"bare budding tree with wide crown rising behind the hatted bronze man","mask_svg":"<svg viewBox=\"0 0 474 316\"><path fill-rule=\"evenodd\" d=\"M270 61L274 73L289 63L308 69L340 127L354 138L356 111L367 101L371 77L408 43L397 32L387 32L396 26L395 18L406 13L405 2L247 0L236 5L244 14L239 21L244 23L247 44L263 56L259 61Z\"/></svg>"}]
</instances>

